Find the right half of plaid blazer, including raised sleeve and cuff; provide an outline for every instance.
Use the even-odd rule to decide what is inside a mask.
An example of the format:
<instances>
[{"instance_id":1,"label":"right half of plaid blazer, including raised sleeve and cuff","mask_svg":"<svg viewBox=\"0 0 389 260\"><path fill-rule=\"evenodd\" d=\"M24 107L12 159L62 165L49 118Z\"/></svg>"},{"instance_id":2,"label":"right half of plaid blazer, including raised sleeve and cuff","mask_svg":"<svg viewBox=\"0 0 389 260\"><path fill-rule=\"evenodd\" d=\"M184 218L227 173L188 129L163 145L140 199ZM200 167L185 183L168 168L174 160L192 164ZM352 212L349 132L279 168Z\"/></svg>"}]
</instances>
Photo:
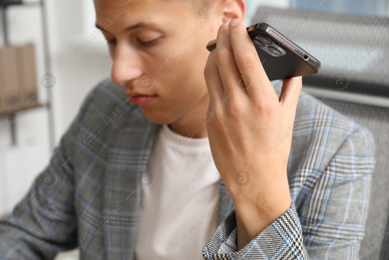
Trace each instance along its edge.
<instances>
[{"instance_id":1,"label":"right half of plaid blazer, including raised sleeve and cuff","mask_svg":"<svg viewBox=\"0 0 389 260\"><path fill-rule=\"evenodd\" d=\"M279 94L281 82L273 86ZM205 246L205 259L359 258L374 168L371 133L305 93L293 131L289 210L240 251L217 255L236 227L231 213Z\"/></svg>"}]
</instances>

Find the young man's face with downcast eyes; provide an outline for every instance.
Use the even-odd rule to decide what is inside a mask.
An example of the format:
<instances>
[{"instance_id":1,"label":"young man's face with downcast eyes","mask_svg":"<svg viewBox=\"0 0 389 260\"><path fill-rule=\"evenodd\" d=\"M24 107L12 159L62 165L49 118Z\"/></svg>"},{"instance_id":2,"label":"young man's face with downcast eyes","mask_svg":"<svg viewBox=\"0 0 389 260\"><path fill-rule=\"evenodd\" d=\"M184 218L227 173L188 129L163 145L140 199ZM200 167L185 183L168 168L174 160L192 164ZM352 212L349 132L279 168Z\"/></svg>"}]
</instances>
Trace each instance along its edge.
<instances>
[{"instance_id":1,"label":"young man's face with downcast eyes","mask_svg":"<svg viewBox=\"0 0 389 260\"><path fill-rule=\"evenodd\" d=\"M206 44L216 38L221 14L210 8L199 16L179 0L127 1L95 0L96 24L105 28L114 61L112 80L124 85L128 102L138 104L149 121L182 120L208 103Z\"/></svg>"}]
</instances>

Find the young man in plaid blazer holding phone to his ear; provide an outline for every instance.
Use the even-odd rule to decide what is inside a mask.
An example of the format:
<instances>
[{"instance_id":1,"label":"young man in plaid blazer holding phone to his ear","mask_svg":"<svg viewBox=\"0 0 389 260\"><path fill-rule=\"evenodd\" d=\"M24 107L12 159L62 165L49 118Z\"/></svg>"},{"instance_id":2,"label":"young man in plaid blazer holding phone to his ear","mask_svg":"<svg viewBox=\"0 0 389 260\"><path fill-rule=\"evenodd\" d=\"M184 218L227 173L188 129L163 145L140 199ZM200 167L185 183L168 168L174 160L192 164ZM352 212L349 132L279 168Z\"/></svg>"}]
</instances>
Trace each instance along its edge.
<instances>
[{"instance_id":1,"label":"young man in plaid blazer holding phone to his ear","mask_svg":"<svg viewBox=\"0 0 389 260\"><path fill-rule=\"evenodd\" d=\"M300 94L301 77L273 88L244 0L95 7L114 82L1 231L3 258L358 258L371 134Z\"/></svg>"}]
</instances>

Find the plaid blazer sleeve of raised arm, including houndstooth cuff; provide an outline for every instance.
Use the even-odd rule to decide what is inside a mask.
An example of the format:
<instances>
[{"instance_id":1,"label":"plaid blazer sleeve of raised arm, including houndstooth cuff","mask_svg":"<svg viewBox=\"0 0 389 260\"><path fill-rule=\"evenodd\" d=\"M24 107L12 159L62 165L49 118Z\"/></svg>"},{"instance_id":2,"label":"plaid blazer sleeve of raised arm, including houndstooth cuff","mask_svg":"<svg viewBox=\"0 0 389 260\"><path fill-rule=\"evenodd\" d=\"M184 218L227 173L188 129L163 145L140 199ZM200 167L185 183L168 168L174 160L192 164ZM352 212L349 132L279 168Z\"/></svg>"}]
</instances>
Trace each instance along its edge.
<instances>
[{"instance_id":1,"label":"plaid blazer sleeve of raised arm, including houndstooth cuff","mask_svg":"<svg viewBox=\"0 0 389 260\"><path fill-rule=\"evenodd\" d=\"M357 127L344 141L325 170L296 204L237 252L218 254L236 227L232 211L203 249L206 260L233 259L349 259L357 260L370 196L374 155L372 136ZM312 172L312 171L311 171ZM303 199L301 199L303 198Z\"/></svg>"}]
</instances>

